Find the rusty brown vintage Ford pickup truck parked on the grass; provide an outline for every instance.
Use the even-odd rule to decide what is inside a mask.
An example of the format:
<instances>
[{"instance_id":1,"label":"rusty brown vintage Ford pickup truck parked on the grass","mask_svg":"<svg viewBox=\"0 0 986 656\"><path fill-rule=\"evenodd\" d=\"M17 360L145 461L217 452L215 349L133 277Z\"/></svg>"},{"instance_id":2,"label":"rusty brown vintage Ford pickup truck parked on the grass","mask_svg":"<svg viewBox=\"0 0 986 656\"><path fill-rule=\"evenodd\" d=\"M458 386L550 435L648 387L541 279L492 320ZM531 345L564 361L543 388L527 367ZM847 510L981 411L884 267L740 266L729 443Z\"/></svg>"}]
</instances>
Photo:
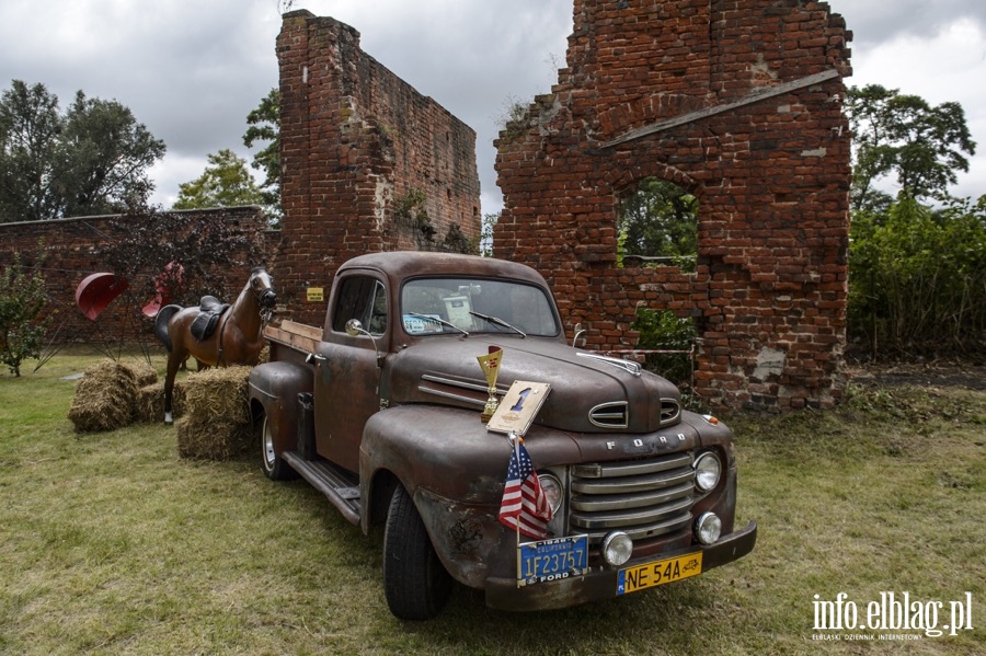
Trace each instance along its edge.
<instances>
[{"instance_id":1,"label":"rusty brown vintage Ford pickup truck parked on the grass","mask_svg":"<svg viewBox=\"0 0 986 656\"><path fill-rule=\"evenodd\" d=\"M364 532L385 526L383 590L402 619L435 617L452 579L506 610L561 608L684 579L754 548L736 529L733 436L681 408L637 362L570 346L529 267L379 253L340 267L321 329L265 331L250 376L264 472L300 475ZM481 419L495 395L547 390L523 440ZM495 350L495 348L493 349ZM516 444L542 499L542 539L500 521Z\"/></svg>"}]
</instances>

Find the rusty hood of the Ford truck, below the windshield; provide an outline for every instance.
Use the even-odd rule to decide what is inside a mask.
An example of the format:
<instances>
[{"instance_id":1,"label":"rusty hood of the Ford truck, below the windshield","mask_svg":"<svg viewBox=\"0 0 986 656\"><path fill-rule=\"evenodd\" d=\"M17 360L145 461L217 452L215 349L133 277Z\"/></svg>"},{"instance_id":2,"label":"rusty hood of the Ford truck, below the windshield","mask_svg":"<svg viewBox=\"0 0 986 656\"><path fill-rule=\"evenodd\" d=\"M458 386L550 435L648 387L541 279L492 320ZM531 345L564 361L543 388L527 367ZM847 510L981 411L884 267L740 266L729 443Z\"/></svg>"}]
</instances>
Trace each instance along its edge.
<instances>
[{"instance_id":1,"label":"rusty hood of the Ford truck, below the windshield","mask_svg":"<svg viewBox=\"0 0 986 656\"><path fill-rule=\"evenodd\" d=\"M515 380L551 385L536 424L577 433L653 433L680 419L680 394L666 379L536 337L422 339L387 357L381 398L390 405L443 404L479 415L489 394L477 357L490 346L503 348L496 379L501 398Z\"/></svg>"}]
</instances>

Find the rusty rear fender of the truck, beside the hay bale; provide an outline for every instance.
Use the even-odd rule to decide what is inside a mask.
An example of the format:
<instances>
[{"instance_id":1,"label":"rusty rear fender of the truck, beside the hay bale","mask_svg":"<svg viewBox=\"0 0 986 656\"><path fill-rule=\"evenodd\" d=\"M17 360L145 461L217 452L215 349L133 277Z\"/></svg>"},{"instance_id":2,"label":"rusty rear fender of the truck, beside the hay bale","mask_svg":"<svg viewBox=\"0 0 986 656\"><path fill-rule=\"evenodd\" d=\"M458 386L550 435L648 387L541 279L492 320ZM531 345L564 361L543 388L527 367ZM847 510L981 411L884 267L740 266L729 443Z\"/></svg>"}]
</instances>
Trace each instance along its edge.
<instances>
[{"instance_id":1,"label":"rusty rear fender of the truck, beside the hay bale","mask_svg":"<svg viewBox=\"0 0 986 656\"><path fill-rule=\"evenodd\" d=\"M295 362L264 362L250 372L250 405L267 415L274 450L294 450L298 442L298 394L312 391L312 370Z\"/></svg>"}]
</instances>

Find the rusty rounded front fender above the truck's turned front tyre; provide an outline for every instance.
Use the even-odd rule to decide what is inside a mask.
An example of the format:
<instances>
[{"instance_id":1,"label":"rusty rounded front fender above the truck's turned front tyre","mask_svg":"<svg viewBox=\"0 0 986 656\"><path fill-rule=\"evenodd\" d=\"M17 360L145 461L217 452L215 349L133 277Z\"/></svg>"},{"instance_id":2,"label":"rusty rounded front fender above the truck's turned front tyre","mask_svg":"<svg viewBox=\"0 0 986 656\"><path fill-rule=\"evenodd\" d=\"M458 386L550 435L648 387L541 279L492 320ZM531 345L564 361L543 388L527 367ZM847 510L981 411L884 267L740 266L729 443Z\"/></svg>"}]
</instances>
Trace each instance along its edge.
<instances>
[{"instance_id":1,"label":"rusty rounded front fender above the truck's turned front tyre","mask_svg":"<svg viewBox=\"0 0 986 656\"><path fill-rule=\"evenodd\" d=\"M580 461L572 435L531 427L525 447L538 468ZM454 578L482 587L491 571L501 573L516 534L498 521L511 459L506 436L489 433L480 411L435 405L401 405L370 417L359 449L364 508L374 507L377 474L397 477L414 500L438 557ZM362 527L369 530L371 514Z\"/></svg>"}]
</instances>

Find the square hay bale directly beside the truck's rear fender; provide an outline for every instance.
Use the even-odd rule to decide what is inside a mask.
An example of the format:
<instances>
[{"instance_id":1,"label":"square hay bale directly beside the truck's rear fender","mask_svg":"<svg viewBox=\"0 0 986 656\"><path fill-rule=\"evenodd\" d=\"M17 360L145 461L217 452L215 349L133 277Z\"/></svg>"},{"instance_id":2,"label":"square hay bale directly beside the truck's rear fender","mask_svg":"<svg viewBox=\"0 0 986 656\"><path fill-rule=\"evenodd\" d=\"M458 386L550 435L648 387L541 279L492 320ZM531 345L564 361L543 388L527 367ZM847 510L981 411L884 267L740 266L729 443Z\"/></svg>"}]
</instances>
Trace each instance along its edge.
<instances>
[{"instance_id":1,"label":"square hay bale directly beside the truck's rear fender","mask_svg":"<svg viewBox=\"0 0 986 656\"><path fill-rule=\"evenodd\" d=\"M185 379L185 416L176 424L179 456L228 460L249 448L250 371L251 367L208 369Z\"/></svg>"}]
</instances>

